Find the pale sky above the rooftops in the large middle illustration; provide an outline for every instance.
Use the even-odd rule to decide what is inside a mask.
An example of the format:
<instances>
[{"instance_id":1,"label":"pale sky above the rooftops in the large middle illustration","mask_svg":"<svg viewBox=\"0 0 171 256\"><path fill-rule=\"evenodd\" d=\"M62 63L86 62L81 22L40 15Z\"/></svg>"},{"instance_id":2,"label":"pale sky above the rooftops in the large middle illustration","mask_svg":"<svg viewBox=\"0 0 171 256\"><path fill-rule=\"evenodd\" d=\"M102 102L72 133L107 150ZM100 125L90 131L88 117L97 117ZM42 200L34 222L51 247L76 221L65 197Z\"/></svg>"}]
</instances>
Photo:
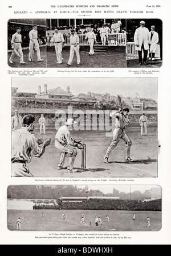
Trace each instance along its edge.
<instances>
[{"instance_id":1,"label":"pale sky above the rooftops in the large middle illustration","mask_svg":"<svg viewBox=\"0 0 171 256\"><path fill-rule=\"evenodd\" d=\"M18 87L18 91L38 93L38 86L44 91L44 84L47 89L60 87L67 90L70 85L72 94L79 93L110 93L111 95L121 94L123 97L153 98L157 101L157 78L13 78L12 87Z\"/></svg>"}]
</instances>

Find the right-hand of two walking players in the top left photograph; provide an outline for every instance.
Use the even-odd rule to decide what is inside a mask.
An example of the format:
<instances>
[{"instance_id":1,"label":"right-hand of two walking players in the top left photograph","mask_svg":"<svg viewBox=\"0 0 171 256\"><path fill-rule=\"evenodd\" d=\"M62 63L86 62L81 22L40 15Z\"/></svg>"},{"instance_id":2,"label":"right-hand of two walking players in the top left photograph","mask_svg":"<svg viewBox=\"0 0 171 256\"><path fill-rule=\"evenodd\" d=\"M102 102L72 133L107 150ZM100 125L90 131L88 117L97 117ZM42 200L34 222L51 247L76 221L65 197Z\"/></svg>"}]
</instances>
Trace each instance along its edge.
<instances>
[{"instance_id":1,"label":"right-hand of two walking players in the top left photograph","mask_svg":"<svg viewBox=\"0 0 171 256\"><path fill-rule=\"evenodd\" d=\"M38 26L32 26L32 30L29 32L30 44L29 44L29 54L28 61L31 61L33 50L36 51L38 61L43 61L40 57L40 49L38 43Z\"/></svg>"}]
</instances>

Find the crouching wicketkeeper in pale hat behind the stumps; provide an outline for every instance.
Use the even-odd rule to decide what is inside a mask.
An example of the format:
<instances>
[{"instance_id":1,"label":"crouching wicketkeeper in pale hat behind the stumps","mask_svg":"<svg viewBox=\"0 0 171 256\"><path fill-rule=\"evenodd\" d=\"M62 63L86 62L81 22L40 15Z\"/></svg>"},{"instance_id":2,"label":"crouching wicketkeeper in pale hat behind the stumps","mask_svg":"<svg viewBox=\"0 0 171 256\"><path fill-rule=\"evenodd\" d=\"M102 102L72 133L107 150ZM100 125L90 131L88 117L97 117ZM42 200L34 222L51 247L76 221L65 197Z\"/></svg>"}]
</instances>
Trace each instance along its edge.
<instances>
[{"instance_id":1,"label":"crouching wicketkeeper in pale hat behind the stumps","mask_svg":"<svg viewBox=\"0 0 171 256\"><path fill-rule=\"evenodd\" d=\"M56 133L55 147L62 151L58 164L59 170L64 169L64 161L68 154L70 157L70 166L68 166L68 172L72 172L77 155L76 147L78 147L78 149L84 148L84 145L81 142L77 142L71 137L70 130L72 130L75 124L76 122L72 118L68 118L65 125L60 127Z\"/></svg>"}]
</instances>

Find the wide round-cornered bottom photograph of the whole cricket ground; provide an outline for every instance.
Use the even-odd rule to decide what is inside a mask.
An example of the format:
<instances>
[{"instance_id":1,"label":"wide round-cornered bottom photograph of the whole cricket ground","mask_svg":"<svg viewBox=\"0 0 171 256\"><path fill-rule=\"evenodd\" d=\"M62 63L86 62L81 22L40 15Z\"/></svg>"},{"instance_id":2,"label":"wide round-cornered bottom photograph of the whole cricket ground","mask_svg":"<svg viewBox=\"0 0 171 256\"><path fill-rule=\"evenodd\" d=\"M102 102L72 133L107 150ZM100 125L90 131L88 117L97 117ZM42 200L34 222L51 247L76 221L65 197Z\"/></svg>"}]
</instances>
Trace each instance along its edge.
<instances>
[{"instance_id":1,"label":"wide round-cornered bottom photograph of the whole cricket ground","mask_svg":"<svg viewBox=\"0 0 171 256\"><path fill-rule=\"evenodd\" d=\"M11 185L11 231L158 231L158 185Z\"/></svg>"}]
</instances>

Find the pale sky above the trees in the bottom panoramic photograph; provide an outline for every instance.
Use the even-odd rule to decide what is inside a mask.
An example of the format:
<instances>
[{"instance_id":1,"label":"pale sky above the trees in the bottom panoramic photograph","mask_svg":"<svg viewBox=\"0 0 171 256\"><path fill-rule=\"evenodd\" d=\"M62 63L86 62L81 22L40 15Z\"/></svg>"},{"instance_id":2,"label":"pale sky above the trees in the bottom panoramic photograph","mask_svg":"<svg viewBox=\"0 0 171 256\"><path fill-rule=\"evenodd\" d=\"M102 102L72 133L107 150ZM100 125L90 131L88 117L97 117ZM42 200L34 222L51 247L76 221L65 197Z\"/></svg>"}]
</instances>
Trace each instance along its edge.
<instances>
[{"instance_id":1,"label":"pale sky above the trees in the bottom panoramic photograph","mask_svg":"<svg viewBox=\"0 0 171 256\"><path fill-rule=\"evenodd\" d=\"M76 187L83 189L85 185L76 185ZM144 193L145 190L150 190L153 187L158 188L157 185L131 185L131 192L135 190L141 191ZM104 194L112 193L113 188L119 190L120 192L129 193L130 192L130 185L88 185L88 189L91 190L100 190Z\"/></svg>"}]
</instances>

